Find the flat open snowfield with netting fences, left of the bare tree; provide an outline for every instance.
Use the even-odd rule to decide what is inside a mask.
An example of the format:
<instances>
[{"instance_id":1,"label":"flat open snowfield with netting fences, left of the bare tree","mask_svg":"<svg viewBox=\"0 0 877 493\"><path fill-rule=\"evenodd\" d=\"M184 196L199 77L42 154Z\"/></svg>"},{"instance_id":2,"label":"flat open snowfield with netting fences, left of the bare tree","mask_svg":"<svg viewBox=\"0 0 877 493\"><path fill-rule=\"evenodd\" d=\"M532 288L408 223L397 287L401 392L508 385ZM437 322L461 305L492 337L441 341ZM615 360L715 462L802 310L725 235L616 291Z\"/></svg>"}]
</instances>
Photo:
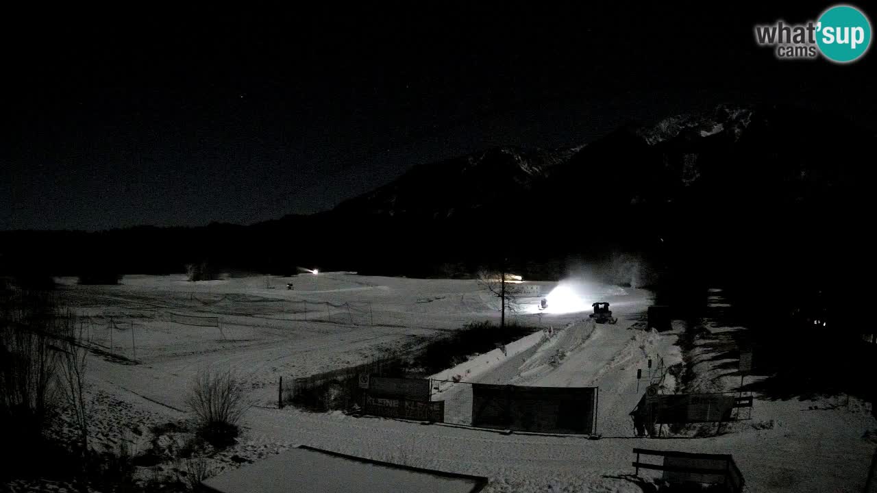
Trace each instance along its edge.
<instances>
[{"instance_id":1,"label":"flat open snowfield with netting fences, left of the bare tree","mask_svg":"<svg viewBox=\"0 0 877 493\"><path fill-rule=\"evenodd\" d=\"M201 368L235 369L253 399L274 405L281 376L343 368L422 346L469 322L498 319L497 300L474 281L320 273L210 282L128 275L119 286L61 282L63 302L87 317L96 347L112 347L112 354L138 363L94 358L92 375L176 409ZM286 289L288 282L295 289ZM174 316L218 317L220 328L178 324ZM578 317L522 313L513 319L547 327Z\"/></svg>"}]
</instances>

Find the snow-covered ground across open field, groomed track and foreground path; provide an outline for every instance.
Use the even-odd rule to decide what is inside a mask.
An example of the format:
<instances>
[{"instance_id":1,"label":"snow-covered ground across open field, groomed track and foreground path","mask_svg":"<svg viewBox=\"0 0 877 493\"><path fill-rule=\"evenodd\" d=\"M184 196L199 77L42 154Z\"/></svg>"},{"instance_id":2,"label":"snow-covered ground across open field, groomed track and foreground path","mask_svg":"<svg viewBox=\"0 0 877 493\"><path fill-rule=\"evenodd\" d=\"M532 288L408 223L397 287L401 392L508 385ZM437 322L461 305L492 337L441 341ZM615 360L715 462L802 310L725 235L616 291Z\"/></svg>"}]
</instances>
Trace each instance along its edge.
<instances>
[{"instance_id":1,"label":"snow-covered ground across open field, groomed track and foreground path","mask_svg":"<svg viewBox=\"0 0 877 493\"><path fill-rule=\"evenodd\" d=\"M287 282L295 289L286 289ZM89 377L93 395L116 403L96 408L96 430L108 437L118 440L122 427L145 429L185 418L183 400L199 369L234 368L244 377L258 405L246 415L239 446L217 460L217 470L302 444L485 475L488 491L640 491L630 476L631 449L646 447L733 454L752 491L859 491L875 446L874 434L867 433L877 424L854 399L850 406L813 411L809 408L819 403L757 396L753 419L731 426L731 432L697 439L634 438L628 412L644 389L640 385L637 391L637 369L646 374L645 361L659 355L667 365L681 361L675 346L679 328L661 334L638 330L652 299L644 290L600 285L577 290L587 298L586 306L609 301L616 325L594 325L585 320L587 312L540 316L524 310L517 316L522 324L550 327L546 332L551 333L539 332L508 345L504 354L497 349L434 375L459 375L463 382L599 386L602 439L588 440L276 409L281 376L346 367L416 348L468 322L498 318L497 300L474 281L320 273L196 283L182 275L129 275L119 286L64 283L62 300L94 322L91 338L103 351L91 357ZM547 293L555 283L542 284ZM219 317L222 331L176 324L170 313ZM108 326L116 327L112 344ZM708 360L707 353L702 356ZM703 390L734 389L738 381L720 374L718 363L695 366L693 383ZM453 400L455 388L440 389L442 398ZM446 408L453 406L446 403ZM117 415L114 409L125 412ZM466 405L457 409L465 414ZM146 435L142 440L148 441Z\"/></svg>"}]
</instances>

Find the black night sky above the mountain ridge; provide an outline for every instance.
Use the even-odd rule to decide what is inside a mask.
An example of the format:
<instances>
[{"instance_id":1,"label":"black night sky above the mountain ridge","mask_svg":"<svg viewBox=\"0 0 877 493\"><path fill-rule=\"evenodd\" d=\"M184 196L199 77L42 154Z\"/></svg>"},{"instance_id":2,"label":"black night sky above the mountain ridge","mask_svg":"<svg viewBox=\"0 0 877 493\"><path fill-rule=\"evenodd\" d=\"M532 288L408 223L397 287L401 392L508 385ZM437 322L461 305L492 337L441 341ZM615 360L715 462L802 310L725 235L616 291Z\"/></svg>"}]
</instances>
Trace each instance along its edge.
<instances>
[{"instance_id":1,"label":"black night sky above the mountain ridge","mask_svg":"<svg viewBox=\"0 0 877 493\"><path fill-rule=\"evenodd\" d=\"M251 224L417 163L573 146L724 102L875 128L873 49L838 66L754 43L753 24L829 4L433 5L7 16L0 229Z\"/></svg>"}]
</instances>

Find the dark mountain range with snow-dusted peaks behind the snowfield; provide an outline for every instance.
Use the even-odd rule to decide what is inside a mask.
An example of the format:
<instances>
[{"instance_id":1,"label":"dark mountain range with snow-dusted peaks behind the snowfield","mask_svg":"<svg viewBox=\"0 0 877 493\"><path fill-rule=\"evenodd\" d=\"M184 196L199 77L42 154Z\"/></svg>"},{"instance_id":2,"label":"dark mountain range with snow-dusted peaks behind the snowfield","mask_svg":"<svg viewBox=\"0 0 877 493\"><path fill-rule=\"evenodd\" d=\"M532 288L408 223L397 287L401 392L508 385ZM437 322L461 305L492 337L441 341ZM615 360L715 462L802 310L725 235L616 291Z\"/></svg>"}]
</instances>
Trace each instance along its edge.
<instances>
[{"instance_id":1,"label":"dark mountain range with snow-dusted peaks behind the snowfield","mask_svg":"<svg viewBox=\"0 0 877 493\"><path fill-rule=\"evenodd\" d=\"M208 260L277 274L318 265L449 275L509 259L551 276L562 274L569 256L632 252L674 273L839 279L870 265L873 144L873 134L831 115L723 105L625 125L587 146L501 147L417 165L310 216L249 226L2 232L0 261L7 271L57 274L96 264L181 271ZM826 261L809 262L803 275L800 266L813 258Z\"/></svg>"}]
</instances>

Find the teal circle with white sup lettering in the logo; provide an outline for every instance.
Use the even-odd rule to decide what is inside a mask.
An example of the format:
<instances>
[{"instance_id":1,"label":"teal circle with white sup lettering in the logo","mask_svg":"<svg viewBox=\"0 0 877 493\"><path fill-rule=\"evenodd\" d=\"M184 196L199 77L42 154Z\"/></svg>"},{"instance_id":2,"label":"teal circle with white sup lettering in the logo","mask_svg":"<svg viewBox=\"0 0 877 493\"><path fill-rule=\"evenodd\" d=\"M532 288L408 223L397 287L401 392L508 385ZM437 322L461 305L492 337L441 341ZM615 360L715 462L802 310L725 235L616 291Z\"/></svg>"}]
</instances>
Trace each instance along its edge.
<instances>
[{"instance_id":1,"label":"teal circle with white sup lettering in the logo","mask_svg":"<svg viewBox=\"0 0 877 493\"><path fill-rule=\"evenodd\" d=\"M871 45L871 23L859 9L836 5L824 11L816 27L816 45L825 58L838 63L854 61Z\"/></svg>"}]
</instances>

